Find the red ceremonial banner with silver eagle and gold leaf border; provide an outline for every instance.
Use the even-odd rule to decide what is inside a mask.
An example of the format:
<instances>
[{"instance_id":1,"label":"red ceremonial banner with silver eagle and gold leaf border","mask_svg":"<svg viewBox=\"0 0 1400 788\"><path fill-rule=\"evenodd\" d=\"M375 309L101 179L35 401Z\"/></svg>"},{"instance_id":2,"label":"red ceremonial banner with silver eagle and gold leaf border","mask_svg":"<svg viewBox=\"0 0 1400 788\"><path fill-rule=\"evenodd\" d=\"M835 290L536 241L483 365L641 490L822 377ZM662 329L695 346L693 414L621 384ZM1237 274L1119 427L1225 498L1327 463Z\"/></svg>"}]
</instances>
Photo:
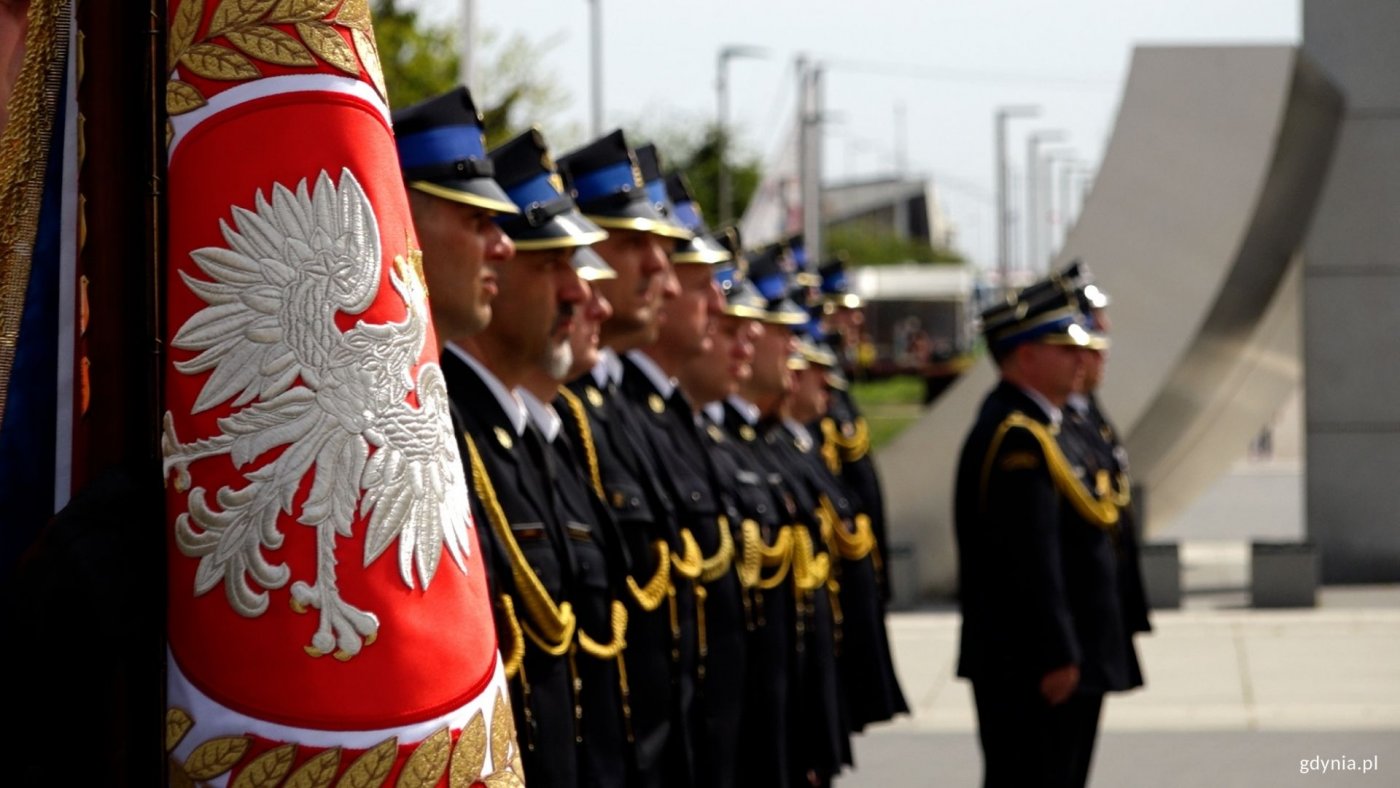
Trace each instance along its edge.
<instances>
[{"instance_id":1,"label":"red ceremonial banner with silver eagle and gold leaf border","mask_svg":"<svg viewBox=\"0 0 1400 788\"><path fill-rule=\"evenodd\" d=\"M168 45L172 784L521 784L367 0Z\"/></svg>"}]
</instances>

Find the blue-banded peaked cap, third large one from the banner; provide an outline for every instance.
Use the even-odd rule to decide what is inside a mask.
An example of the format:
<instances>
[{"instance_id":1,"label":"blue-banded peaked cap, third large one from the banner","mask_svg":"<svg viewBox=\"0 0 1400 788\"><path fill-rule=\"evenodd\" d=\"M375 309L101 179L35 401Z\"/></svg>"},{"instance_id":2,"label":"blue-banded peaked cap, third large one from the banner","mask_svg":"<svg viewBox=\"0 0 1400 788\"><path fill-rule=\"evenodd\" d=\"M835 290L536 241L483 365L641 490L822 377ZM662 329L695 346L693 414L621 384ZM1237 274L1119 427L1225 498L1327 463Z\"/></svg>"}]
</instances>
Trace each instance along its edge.
<instances>
[{"instance_id":1,"label":"blue-banded peaked cap, third large one from the banner","mask_svg":"<svg viewBox=\"0 0 1400 788\"><path fill-rule=\"evenodd\" d=\"M637 157L622 129L559 158L559 172L578 210L605 230L636 230L671 238L641 181Z\"/></svg>"}]
</instances>

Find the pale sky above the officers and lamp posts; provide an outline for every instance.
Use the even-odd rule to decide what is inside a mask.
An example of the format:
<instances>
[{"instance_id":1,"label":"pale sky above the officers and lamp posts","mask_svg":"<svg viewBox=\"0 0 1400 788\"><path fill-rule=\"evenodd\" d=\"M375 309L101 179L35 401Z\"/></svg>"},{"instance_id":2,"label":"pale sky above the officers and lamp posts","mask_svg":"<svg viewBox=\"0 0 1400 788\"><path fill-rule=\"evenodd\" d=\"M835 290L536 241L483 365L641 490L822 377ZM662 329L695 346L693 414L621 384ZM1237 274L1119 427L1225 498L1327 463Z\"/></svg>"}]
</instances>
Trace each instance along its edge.
<instances>
[{"instance_id":1,"label":"pale sky above the officers and lamp posts","mask_svg":"<svg viewBox=\"0 0 1400 788\"><path fill-rule=\"evenodd\" d=\"M463 0L400 0L435 21ZM725 45L757 45L762 60L731 63L731 118L759 155L780 144L795 87L794 59L826 64L826 178L889 174L903 106L909 171L934 178L959 246L995 249L993 115L1033 104L1011 127L1012 167L1025 133L1060 129L1067 157L1093 169L1112 134L1133 48L1165 43L1296 43L1301 0L598 0L603 18L605 127L701 123L715 115L715 60ZM543 123L557 147L584 141L589 122L589 0L475 0L482 29L550 41L540 73L570 102Z\"/></svg>"}]
</instances>

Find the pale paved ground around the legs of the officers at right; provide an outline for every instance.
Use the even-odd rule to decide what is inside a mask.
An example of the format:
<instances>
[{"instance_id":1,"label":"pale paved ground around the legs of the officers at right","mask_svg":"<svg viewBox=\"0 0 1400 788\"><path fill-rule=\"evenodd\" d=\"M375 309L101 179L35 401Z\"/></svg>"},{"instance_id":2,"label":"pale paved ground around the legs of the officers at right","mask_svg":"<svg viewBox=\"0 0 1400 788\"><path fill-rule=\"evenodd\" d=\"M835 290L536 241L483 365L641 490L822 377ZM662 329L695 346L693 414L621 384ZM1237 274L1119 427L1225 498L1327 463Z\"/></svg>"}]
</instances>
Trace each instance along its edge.
<instances>
[{"instance_id":1,"label":"pale paved ground around the legs of the officers at right","mask_svg":"<svg viewBox=\"0 0 1400 788\"><path fill-rule=\"evenodd\" d=\"M1105 704L1091 784L1400 785L1400 586L1250 610L1245 556L1228 543L1183 549L1204 582L1138 637L1148 686ZM953 677L956 610L895 613L889 626L913 714L858 736L857 768L837 785L979 785L972 693ZM1302 774L1313 757L1340 763ZM1378 763L1362 774L1365 759ZM1348 761L1357 771L1337 770Z\"/></svg>"}]
</instances>

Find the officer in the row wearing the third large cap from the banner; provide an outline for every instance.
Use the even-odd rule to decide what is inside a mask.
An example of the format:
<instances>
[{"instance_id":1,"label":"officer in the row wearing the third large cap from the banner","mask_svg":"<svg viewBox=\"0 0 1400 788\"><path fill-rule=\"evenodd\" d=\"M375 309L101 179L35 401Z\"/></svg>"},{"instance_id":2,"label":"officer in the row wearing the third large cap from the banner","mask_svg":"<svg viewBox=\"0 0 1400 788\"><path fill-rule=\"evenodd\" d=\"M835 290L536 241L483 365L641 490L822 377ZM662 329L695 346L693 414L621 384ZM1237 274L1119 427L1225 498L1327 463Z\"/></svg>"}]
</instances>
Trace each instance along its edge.
<instances>
[{"instance_id":1,"label":"officer in the row wearing the third large cap from the banner","mask_svg":"<svg viewBox=\"0 0 1400 788\"><path fill-rule=\"evenodd\" d=\"M568 384L577 402L564 428L592 445L598 486L630 556L626 670L640 785L693 785L693 696L697 659L692 581L672 572L680 529L633 404L622 396L620 354L659 332L662 302L679 288L668 253L692 234L648 197L636 154L620 130L560 158L582 213L609 231L595 251L616 277L594 283L612 307L599 328L598 364ZM587 437L587 441L585 441Z\"/></svg>"}]
</instances>

